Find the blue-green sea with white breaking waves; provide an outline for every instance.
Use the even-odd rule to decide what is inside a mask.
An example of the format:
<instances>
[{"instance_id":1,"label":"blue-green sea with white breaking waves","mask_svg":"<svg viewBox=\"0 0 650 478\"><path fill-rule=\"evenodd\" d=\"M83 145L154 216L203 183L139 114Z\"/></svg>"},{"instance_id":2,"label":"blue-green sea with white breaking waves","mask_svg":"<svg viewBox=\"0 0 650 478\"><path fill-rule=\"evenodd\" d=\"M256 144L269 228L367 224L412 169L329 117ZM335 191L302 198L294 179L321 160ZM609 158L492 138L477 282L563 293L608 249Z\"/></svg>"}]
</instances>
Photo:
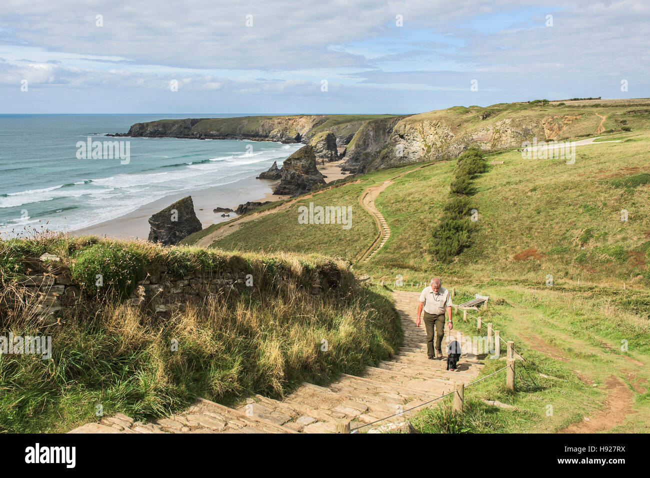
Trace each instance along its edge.
<instances>
[{"instance_id":1,"label":"blue-green sea with white breaking waves","mask_svg":"<svg viewBox=\"0 0 650 478\"><path fill-rule=\"evenodd\" d=\"M231 116L247 115L0 115L0 234L75 231L167 195L250 182L302 146L105 136L155 119Z\"/></svg>"}]
</instances>

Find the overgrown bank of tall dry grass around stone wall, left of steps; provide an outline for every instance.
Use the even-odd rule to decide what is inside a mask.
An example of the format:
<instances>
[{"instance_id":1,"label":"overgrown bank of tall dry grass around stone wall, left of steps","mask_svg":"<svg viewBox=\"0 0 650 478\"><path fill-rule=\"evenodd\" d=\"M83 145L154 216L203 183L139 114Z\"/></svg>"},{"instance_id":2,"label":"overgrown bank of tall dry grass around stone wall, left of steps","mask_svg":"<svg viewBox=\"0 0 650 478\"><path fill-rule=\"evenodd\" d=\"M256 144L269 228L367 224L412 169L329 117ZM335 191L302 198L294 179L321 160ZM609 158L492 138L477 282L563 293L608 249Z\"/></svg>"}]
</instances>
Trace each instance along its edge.
<instances>
[{"instance_id":1,"label":"overgrown bank of tall dry grass around stone wall, left of steps","mask_svg":"<svg viewBox=\"0 0 650 478\"><path fill-rule=\"evenodd\" d=\"M133 267L113 261L116 251L144 270L164 266L181 277L246 268L255 285L205 297L170 316L110 296L86 298L63 309L62 325L43 330L31 312L38 299L19 285L29 272L27 258L52 253L73 270L94 261L107 281L118 284L131 279ZM335 273L341 282L315 296L304 286L313 271ZM239 255L54 236L0 242L0 283L3 334L52 336L51 360L0 356L0 432L68 431L95 420L100 404L105 415L144 420L183 409L197 396L222 403L256 392L278 397L301 381L327 383L386 359L401 333L385 290L357 283L348 264L315 255Z\"/></svg>"}]
</instances>

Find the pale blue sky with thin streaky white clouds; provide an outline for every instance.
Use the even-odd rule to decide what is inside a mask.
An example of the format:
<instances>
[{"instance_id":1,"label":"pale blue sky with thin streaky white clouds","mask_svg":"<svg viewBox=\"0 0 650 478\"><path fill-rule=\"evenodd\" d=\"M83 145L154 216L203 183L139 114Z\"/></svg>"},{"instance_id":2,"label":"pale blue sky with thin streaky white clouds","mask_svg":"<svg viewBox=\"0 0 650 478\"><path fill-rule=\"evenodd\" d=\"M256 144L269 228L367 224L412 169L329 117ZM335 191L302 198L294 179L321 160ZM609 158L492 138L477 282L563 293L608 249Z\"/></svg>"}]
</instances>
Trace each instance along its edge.
<instances>
[{"instance_id":1,"label":"pale blue sky with thin streaky white clouds","mask_svg":"<svg viewBox=\"0 0 650 478\"><path fill-rule=\"evenodd\" d=\"M80 3L2 0L0 114L399 114L650 96L646 0Z\"/></svg>"}]
</instances>

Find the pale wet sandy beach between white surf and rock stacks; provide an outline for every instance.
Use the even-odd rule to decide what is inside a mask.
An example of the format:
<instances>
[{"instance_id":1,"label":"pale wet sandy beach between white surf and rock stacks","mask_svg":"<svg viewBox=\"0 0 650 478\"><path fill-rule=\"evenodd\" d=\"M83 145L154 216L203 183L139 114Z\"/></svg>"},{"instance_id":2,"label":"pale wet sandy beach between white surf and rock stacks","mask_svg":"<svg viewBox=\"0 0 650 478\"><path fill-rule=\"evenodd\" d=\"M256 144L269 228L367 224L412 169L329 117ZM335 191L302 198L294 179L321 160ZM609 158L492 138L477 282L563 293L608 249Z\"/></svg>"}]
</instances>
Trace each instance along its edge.
<instances>
[{"instance_id":1,"label":"pale wet sandy beach between white surf and rock stacks","mask_svg":"<svg viewBox=\"0 0 650 478\"><path fill-rule=\"evenodd\" d=\"M343 160L328 162L318 166L325 178L325 182L335 181L346 177L341 171ZM97 236L108 236L120 239L146 239L149 236L149 218L156 212L168 207L185 196L192 196L194 202L194 212L196 217L201 221L203 229L209 225L231 220L237 216L234 212L229 213L229 217L222 218L221 212L214 213L216 207L237 208L238 205L248 201L278 201L287 199L286 196L274 195L273 189L279 181L269 181L267 179L255 179L250 177L241 181L216 186L213 188L204 188L194 191L185 191L178 194L168 195L151 201L142 207L137 208L129 214L120 218L105 221L91 227L72 231L72 234L94 234ZM226 213L228 214L228 213Z\"/></svg>"}]
</instances>

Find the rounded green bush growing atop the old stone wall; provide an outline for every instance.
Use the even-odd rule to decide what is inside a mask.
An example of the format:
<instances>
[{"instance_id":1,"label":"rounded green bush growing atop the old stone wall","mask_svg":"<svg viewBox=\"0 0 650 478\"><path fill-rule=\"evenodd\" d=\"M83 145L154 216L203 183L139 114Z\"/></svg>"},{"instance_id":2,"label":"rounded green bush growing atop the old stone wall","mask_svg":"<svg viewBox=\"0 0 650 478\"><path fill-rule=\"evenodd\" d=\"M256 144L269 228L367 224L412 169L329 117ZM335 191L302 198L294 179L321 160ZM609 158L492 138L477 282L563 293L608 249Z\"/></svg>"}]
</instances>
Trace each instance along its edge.
<instances>
[{"instance_id":1,"label":"rounded green bush growing atop the old stone wall","mask_svg":"<svg viewBox=\"0 0 650 478\"><path fill-rule=\"evenodd\" d=\"M141 251L123 244L96 244L77 254L71 272L87 294L105 297L131 295L144 277L145 260Z\"/></svg>"}]
</instances>

